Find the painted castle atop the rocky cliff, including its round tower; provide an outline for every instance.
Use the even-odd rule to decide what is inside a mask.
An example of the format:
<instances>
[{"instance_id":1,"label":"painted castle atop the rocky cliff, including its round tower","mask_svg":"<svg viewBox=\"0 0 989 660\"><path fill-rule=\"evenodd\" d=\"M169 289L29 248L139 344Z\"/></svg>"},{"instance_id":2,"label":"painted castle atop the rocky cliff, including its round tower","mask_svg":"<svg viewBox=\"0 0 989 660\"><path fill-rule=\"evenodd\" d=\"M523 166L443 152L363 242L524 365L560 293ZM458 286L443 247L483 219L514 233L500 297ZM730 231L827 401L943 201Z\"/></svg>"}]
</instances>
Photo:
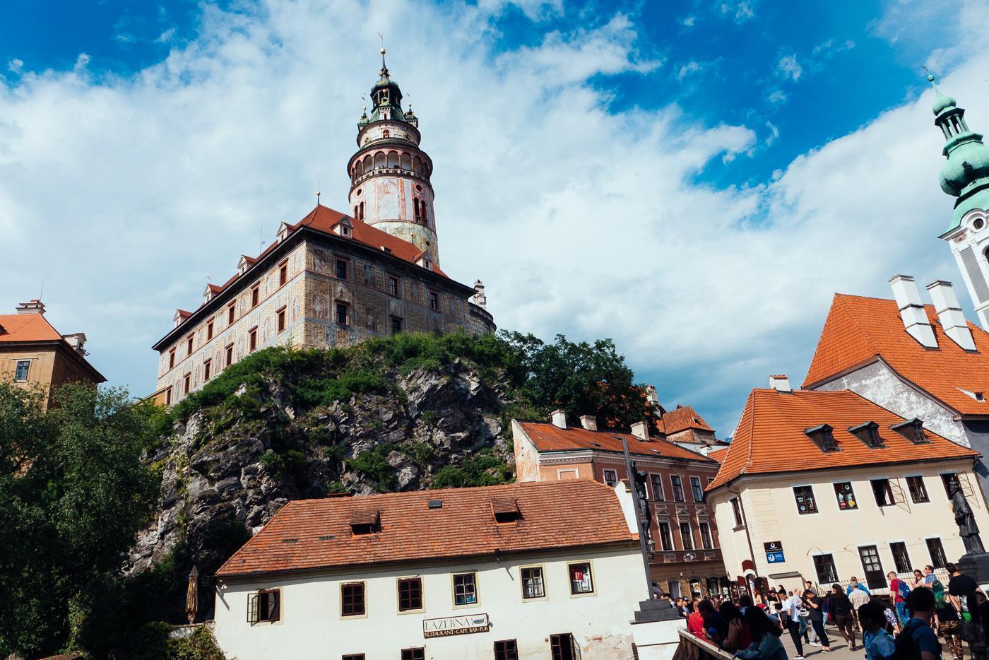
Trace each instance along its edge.
<instances>
[{"instance_id":1,"label":"painted castle atop the rocky cliff, including its round tower","mask_svg":"<svg viewBox=\"0 0 989 660\"><path fill-rule=\"evenodd\" d=\"M374 107L357 126L353 216L317 204L282 223L257 256L242 255L193 312L177 310L158 351L154 400L173 404L244 355L272 345L346 346L398 332L495 330L484 285L461 284L439 265L432 161L418 119L385 66Z\"/></svg>"}]
</instances>

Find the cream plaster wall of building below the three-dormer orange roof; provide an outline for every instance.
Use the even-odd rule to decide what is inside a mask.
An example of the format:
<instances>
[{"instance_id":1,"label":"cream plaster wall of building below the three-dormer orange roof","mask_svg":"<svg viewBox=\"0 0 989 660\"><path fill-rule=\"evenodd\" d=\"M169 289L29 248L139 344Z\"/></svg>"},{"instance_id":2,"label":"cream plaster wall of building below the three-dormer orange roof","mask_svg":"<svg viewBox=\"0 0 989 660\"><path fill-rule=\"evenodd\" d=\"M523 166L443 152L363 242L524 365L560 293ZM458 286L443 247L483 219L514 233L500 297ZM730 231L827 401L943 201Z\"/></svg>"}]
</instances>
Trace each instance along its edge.
<instances>
[{"instance_id":1,"label":"cream plaster wall of building below the three-dormer orange roof","mask_svg":"<svg viewBox=\"0 0 989 660\"><path fill-rule=\"evenodd\" d=\"M913 568L931 563L926 538L940 537L948 561L956 561L964 554L964 545L958 536L958 527L951 514L950 503L944 493L941 474L957 472L967 478L972 488L968 497L978 525L989 529L989 515L979 491L971 461L945 461L944 463L875 466L847 470L828 470L803 474L786 474L778 477L753 475L735 482L733 489L742 493L743 504L756 553L756 567L760 576L797 571L804 579L817 581L813 555L832 554L838 577L844 582L852 576L862 578L862 565L858 545L875 545L879 551L883 572L895 570L891 541L907 544L907 552ZM930 502L914 504L910 500L906 476L921 475ZM893 507L878 507L872 496L869 479L896 480L902 489L904 502ZM851 481L858 509L842 511L838 508L834 484ZM794 486L812 486L817 501L817 514L800 515L793 497ZM894 487L894 495L896 488ZM731 530L733 522L729 497L725 489L712 493L715 518L721 532L721 551L725 567L732 577L742 574L742 560L749 558L744 530ZM765 560L764 542L782 541L785 561L769 564ZM798 580L770 580L787 588L798 586Z\"/></svg>"}]
</instances>

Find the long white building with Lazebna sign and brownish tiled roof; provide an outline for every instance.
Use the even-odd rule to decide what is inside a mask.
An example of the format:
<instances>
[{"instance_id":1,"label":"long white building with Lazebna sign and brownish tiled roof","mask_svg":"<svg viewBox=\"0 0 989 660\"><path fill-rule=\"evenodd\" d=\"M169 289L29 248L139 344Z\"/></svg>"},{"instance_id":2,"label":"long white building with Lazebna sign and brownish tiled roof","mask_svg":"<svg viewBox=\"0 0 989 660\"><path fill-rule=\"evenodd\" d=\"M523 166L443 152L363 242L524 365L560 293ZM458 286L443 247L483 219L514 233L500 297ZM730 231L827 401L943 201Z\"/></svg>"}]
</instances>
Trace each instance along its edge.
<instances>
[{"instance_id":1,"label":"long white building with Lazebna sign and brownish tiled roof","mask_svg":"<svg viewBox=\"0 0 989 660\"><path fill-rule=\"evenodd\" d=\"M631 658L632 512L589 480L290 502L218 571L217 640L237 660Z\"/></svg>"}]
</instances>

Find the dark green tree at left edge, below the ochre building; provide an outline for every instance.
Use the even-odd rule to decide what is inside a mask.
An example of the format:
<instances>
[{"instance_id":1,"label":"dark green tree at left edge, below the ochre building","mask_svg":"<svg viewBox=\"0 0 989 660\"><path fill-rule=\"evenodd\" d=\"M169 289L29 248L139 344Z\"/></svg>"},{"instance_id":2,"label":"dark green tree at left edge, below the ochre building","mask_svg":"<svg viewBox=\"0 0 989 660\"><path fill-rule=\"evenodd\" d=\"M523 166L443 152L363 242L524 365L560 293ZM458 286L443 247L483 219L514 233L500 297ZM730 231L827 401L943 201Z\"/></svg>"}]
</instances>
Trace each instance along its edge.
<instances>
[{"instance_id":1,"label":"dark green tree at left edge, below the ochre building","mask_svg":"<svg viewBox=\"0 0 989 660\"><path fill-rule=\"evenodd\" d=\"M149 405L84 384L42 399L0 383L0 656L70 643L157 494Z\"/></svg>"}]
</instances>

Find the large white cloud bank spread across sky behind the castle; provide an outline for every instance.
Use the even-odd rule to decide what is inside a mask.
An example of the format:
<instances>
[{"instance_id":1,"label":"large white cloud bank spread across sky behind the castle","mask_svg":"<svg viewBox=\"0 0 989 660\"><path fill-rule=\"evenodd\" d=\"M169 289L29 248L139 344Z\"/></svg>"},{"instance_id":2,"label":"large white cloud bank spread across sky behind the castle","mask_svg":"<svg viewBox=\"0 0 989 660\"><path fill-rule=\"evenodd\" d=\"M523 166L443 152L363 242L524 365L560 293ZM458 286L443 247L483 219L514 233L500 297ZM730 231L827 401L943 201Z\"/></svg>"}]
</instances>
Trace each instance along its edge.
<instances>
[{"instance_id":1,"label":"large white cloud bank spread across sky behind the castle","mask_svg":"<svg viewBox=\"0 0 989 660\"><path fill-rule=\"evenodd\" d=\"M773 128L761 140L675 105L609 112L587 77L658 65L623 15L494 56L487 6L206 11L197 40L133 78L83 65L0 84L0 305L44 280L55 327L85 330L97 367L136 392L207 275L302 218L319 179L346 207L377 32L435 163L444 270L484 279L502 328L613 336L664 403L707 402L724 432L765 374L800 380L832 292L885 295L894 272L957 279L936 238L951 202L930 92L762 186L718 188L695 176ZM944 78L976 130L987 64Z\"/></svg>"}]
</instances>

